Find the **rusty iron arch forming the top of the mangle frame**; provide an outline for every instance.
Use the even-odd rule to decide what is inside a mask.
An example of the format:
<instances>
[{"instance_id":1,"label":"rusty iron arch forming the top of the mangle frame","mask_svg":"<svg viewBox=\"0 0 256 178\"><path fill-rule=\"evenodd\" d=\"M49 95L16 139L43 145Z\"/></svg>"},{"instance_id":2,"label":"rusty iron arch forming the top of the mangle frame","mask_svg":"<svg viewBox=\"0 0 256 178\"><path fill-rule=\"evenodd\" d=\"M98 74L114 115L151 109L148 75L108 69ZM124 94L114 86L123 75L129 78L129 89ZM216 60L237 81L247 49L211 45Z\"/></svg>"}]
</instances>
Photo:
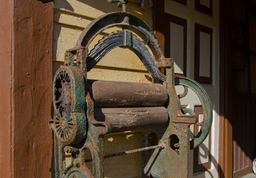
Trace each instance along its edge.
<instances>
[{"instance_id":1,"label":"rusty iron arch forming the top of the mangle frame","mask_svg":"<svg viewBox=\"0 0 256 178\"><path fill-rule=\"evenodd\" d=\"M157 67L162 67L161 60L165 57L163 56L163 52L156 36L145 22L131 13L108 13L93 20L93 22L83 30L76 43L76 47L88 47L99 33L110 27L122 27L137 33L137 35L140 36L152 50L155 59L157 60Z\"/></svg>"}]
</instances>

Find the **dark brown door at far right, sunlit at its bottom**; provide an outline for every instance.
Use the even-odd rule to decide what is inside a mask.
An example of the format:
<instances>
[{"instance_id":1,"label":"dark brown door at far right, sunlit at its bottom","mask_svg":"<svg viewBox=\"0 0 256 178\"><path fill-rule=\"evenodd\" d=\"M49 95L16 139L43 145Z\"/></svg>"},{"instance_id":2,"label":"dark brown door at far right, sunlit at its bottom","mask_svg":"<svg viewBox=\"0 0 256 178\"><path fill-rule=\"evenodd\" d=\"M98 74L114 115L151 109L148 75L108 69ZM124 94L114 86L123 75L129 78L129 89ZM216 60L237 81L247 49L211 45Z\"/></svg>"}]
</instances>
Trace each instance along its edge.
<instances>
[{"instance_id":1,"label":"dark brown door at far right, sunlit at its bottom","mask_svg":"<svg viewBox=\"0 0 256 178\"><path fill-rule=\"evenodd\" d=\"M252 173L255 157L256 4L233 2L233 177Z\"/></svg>"}]
</instances>

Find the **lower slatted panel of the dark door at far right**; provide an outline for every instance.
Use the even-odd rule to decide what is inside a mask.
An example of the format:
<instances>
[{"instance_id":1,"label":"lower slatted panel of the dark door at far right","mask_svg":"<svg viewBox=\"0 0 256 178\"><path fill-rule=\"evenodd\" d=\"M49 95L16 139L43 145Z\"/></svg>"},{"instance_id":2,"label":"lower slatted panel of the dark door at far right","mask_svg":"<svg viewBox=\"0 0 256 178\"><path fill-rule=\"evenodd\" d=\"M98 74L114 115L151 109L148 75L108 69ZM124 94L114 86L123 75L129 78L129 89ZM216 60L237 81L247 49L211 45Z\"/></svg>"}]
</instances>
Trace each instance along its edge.
<instances>
[{"instance_id":1,"label":"lower slatted panel of the dark door at far right","mask_svg":"<svg viewBox=\"0 0 256 178\"><path fill-rule=\"evenodd\" d=\"M256 97L233 93L233 176L242 177L252 172L255 156ZM253 118L253 119L252 119Z\"/></svg>"}]
</instances>

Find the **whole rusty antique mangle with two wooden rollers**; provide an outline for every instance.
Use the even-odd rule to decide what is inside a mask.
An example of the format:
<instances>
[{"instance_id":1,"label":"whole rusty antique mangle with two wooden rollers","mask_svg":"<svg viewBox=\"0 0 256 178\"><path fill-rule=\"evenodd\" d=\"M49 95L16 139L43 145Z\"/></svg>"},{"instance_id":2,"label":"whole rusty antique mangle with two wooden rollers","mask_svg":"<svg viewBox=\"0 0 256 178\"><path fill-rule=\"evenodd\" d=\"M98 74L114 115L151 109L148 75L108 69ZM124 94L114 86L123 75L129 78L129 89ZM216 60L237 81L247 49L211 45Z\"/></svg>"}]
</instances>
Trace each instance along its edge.
<instances>
[{"instance_id":1,"label":"whole rusty antique mangle with two wooden rollers","mask_svg":"<svg viewBox=\"0 0 256 178\"><path fill-rule=\"evenodd\" d=\"M173 59L163 56L153 31L141 19L125 12L128 0L118 2L122 12L107 13L93 20L83 30L76 47L66 50L65 65L59 67L54 76L54 118L50 127L56 138L56 177L102 178L104 159L140 151L143 153L142 177L189 177L189 151L200 145L211 129L209 96L197 82L174 78ZM110 27L120 27L120 30L103 37L88 51L93 39ZM136 53L154 82L88 80L88 71L116 47L126 47ZM165 69L165 75L160 68ZM175 85L182 85L184 92L177 96ZM180 106L180 99L186 96L188 88L200 98L203 122L198 122L194 111ZM190 140L189 126L193 124L200 126L200 132ZM152 144L145 139L143 148L104 154L105 134L133 130L143 130L145 138L154 133L157 141ZM91 158L85 155L86 150L91 152ZM69 166L65 164L65 153L72 156ZM90 171L85 162L92 162L93 170Z\"/></svg>"}]
</instances>

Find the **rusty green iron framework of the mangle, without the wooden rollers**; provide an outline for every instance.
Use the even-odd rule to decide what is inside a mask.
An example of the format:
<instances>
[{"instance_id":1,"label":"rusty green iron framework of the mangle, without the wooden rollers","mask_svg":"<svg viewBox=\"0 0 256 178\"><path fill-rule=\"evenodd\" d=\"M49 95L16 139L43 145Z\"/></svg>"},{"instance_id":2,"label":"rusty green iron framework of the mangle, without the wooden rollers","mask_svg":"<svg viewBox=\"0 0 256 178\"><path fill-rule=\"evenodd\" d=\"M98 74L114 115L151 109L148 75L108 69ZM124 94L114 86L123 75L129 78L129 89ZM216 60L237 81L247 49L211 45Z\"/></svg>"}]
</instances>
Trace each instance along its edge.
<instances>
[{"instance_id":1,"label":"rusty green iron framework of the mangle, without the wooden rollers","mask_svg":"<svg viewBox=\"0 0 256 178\"><path fill-rule=\"evenodd\" d=\"M118 2L123 12L107 13L91 22L82 32L76 47L66 51L65 65L54 76L54 118L50 121L50 127L55 133L56 177L103 178L104 159L137 152L143 155L143 177L189 177L189 151L200 145L211 129L212 108L209 96L194 80L183 77L174 79L174 61L163 56L153 31L141 19L125 12L127 0ZM109 27L122 27L123 30L105 36L89 53L89 44ZM131 32L140 36L144 43ZM148 44L153 55L145 44ZM103 136L111 133L112 128L110 123L94 118L93 93L88 85L87 73L115 47L126 47L134 51L154 82L166 86L168 122L163 128L146 128L142 131L145 138L143 148L104 155ZM160 73L160 67L165 67L166 75ZM182 85L184 93L177 96L175 85ZM203 122L198 122L191 109L180 107L180 99L187 95L188 88L194 90L200 98L204 111ZM190 141L188 129L193 124L201 126L201 129ZM154 145L146 139L152 133L157 138ZM91 157L85 155L87 150L91 152ZM65 162L66 153L72 157L68 166ZM92 162L92 171L85 162Z\"/></svg>"}]
</instances>

